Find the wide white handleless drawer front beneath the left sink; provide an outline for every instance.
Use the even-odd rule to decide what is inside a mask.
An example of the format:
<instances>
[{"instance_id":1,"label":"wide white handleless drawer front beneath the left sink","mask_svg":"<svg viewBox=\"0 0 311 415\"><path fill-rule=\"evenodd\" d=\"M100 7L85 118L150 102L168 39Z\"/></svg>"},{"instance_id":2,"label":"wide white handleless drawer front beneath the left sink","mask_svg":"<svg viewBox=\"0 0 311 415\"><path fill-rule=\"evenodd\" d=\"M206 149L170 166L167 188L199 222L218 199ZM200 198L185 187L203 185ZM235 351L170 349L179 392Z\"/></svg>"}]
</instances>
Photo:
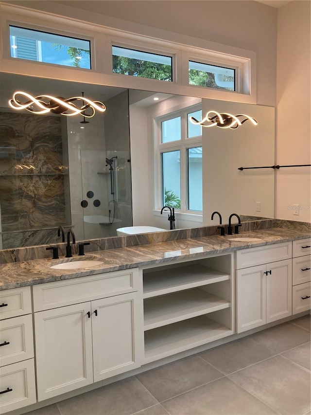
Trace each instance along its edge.
<instances>
[{"instance_id":1,"label":"wide white handleless drawer front beneath the left sink","mask_svg":"<svg viewBox=\"0 0 311 415\"><path fill-rule=\"evenodd\" d=\"M34 311L137 291L138 268L106 272L33 286Z\"/></svg>"}]
</instances>

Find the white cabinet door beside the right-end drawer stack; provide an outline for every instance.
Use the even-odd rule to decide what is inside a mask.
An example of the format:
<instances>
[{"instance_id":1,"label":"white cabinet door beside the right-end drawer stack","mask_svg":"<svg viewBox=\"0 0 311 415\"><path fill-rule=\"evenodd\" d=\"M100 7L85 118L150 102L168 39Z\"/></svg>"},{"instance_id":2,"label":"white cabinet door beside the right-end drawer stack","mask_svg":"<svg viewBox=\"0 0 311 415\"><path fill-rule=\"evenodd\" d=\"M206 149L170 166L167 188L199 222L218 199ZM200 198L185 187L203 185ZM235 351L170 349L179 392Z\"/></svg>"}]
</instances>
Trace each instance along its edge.
<instances>
[{"instance_id":1,"label":"white cabinet door beside the right-end drawer stack","mask_svg":"<svg viewBox=\"0 0 311 415\"><path fill-rule=\"evenodd\" d=\"M266 267L266 323L271 323L292 315L292 260L273 262Z\"/></svg>"}]
</instances>

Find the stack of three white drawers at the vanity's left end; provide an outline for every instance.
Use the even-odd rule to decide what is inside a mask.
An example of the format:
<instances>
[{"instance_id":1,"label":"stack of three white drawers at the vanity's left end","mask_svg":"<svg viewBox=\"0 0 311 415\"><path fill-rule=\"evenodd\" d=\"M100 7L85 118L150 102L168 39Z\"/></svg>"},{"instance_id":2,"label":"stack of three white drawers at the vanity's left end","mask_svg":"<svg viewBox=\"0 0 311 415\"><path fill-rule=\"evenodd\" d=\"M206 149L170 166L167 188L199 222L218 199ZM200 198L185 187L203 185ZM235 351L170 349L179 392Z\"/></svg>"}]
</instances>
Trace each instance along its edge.
<instances>
[{"instance_id":1,"label":"stack of three white drawers at the vanity's left end","mask_svg":"<svg viewBox=\"0 0 311 415\"><path fill-rule=\"evenodd\" d=\"M36 402L30 287L0 291L0 413Z\"/></svg>"}]
</instances>

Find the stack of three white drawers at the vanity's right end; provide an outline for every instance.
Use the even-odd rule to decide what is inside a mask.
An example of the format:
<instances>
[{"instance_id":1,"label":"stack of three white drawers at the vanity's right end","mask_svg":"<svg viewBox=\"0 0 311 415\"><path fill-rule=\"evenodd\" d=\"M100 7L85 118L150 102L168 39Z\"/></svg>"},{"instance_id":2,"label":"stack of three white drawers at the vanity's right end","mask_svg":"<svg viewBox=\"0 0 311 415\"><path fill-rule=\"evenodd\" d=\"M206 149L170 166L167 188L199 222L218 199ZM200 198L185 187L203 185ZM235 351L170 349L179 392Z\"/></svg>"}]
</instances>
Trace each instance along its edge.
<instances>
[{"instance_id":1,"label":"stack of three white drawers at the vanity's right end","mask_svg":"<svg viewBox=\"0 0 311 415\"><path fill-rule=\"evenodd\" d=\"M311 238L293 241L293 314L311 308Z\"/></svg>"}]
</instances>

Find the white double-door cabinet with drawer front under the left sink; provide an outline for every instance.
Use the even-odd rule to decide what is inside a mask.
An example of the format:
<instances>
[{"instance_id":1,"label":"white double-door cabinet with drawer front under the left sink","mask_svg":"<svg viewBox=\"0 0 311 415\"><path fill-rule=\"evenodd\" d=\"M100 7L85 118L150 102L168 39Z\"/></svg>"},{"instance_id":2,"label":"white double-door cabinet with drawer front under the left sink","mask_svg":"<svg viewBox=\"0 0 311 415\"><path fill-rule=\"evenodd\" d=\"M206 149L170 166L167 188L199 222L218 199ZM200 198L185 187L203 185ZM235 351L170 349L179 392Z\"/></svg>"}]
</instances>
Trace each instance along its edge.
<instances>
[{"instance_id":1,"label":"white double-door cabinet with drawer front under the left sink","mask_svg":"<svg viewBox=\"0 0 311 415\"><path fill-rule=\"evenodd\" d=\"M137 269L33 289L38 401L140 366Z\"/></svg>"}]
</instances>

